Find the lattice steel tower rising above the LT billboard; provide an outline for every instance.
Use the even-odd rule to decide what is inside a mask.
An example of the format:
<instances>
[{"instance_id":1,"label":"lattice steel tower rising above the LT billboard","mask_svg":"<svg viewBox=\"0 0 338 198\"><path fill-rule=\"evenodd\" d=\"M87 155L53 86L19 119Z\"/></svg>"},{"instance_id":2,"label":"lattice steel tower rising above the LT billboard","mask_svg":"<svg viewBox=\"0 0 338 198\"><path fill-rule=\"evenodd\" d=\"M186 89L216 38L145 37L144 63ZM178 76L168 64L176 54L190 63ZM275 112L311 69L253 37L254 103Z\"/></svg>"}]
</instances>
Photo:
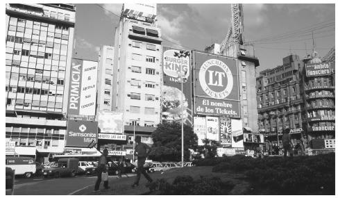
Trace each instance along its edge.
<instances>
[{"instance_id":1,"label":"lattice steel tower rising above the LT billboard","mask_svg":"<svg viewBox=\"0 0 338 198\"><path fill-rule=\"evenodd\" d=\"M231 4L231 23L226 33L226 39L221 43L219 50L220 54L223 54L228 47L232 44L244 43L244 13L242 3Z\"/></svg>"}]
</instances>

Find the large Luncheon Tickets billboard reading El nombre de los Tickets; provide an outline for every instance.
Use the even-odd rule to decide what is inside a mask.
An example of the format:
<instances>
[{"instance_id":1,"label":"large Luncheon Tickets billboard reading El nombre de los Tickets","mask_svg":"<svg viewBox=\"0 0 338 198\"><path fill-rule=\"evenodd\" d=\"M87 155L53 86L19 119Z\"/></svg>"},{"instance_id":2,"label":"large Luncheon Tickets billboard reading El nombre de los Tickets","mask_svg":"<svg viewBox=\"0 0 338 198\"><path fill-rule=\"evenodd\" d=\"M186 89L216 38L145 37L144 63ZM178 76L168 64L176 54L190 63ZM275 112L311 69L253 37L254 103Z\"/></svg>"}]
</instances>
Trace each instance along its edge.
<instances>
[{"instance_id":1,"label":"large Luncheon Tickets billboard reading El nombre de los Tickets","mask_svg":"<svg viewBox=\"0 0 338 198\"><path fill-rule=\"evenodd\" d=\"M194 110L240 117L237 60L194 51Z\"/></svg>"}]
</instances>

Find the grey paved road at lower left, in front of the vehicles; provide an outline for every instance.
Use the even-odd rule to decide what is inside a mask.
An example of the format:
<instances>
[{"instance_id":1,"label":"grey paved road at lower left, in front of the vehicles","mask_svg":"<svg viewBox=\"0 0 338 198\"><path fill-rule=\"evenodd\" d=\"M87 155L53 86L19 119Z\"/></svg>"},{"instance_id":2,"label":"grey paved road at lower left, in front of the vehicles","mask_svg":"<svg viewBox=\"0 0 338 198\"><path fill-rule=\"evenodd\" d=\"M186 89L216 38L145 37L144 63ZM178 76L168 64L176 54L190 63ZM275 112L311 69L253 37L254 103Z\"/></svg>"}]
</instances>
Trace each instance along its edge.
<instances>
[{"instance_id":1,"label":"grey paved road at lower left, in front of the vehicles","mask_svg":"<svg viewBox=\"0 0 338 198\"><path fill-rule=\"evenodd\" d=\"M135 176L135 174L128 175ZM109 176L109 180L116 178L117 176ZM61 177L58 179L17 178L15 179L14 195L72 195L88 187L92 187L94 190L95 181L96 176Z\"/></svg>"}]
</instances>

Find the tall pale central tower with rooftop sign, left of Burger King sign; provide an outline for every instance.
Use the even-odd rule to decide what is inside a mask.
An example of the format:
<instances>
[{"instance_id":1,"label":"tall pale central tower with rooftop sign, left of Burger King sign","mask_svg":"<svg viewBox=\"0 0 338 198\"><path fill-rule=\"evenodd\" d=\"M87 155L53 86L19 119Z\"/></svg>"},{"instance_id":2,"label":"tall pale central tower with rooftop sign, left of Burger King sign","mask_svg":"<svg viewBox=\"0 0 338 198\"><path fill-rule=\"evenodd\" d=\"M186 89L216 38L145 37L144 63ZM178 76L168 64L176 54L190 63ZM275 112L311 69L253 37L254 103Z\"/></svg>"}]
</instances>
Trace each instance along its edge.
<instances>
[{"instance_id":1,"label":"tall pale central tower with rooftop sign, left of Burger King sign","mask_svg":"<svg viewBox=\"0 0 338 198\"><path fill-rule=\"evenodd\" d=\"M152 143L160 123L161 35L155 4L124 4L115 33L112 110L124 113L124 132Z\"/></svg>"}]
</instances>

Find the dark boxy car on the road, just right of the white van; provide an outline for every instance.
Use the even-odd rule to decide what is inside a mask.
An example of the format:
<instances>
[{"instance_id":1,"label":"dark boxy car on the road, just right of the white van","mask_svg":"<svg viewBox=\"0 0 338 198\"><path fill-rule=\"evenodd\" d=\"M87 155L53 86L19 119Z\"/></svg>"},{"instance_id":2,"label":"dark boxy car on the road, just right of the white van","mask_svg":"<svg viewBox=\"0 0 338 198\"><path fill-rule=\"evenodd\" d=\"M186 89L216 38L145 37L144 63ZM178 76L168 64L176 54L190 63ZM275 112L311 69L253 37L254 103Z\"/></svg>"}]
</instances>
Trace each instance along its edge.
<instances>
[{"instance_id":1,"label":"dark boxy car on the road, just right of the white van","mask_svg":"<svg viewBox=\"0 0 338 198\"><path fill-rule=\"evenodd\" d=\"M78 159L61 158L58 160L56 167L44 168L42 172L44 177L75 176L78 174Z\"/></svg>"}]
</instances>

